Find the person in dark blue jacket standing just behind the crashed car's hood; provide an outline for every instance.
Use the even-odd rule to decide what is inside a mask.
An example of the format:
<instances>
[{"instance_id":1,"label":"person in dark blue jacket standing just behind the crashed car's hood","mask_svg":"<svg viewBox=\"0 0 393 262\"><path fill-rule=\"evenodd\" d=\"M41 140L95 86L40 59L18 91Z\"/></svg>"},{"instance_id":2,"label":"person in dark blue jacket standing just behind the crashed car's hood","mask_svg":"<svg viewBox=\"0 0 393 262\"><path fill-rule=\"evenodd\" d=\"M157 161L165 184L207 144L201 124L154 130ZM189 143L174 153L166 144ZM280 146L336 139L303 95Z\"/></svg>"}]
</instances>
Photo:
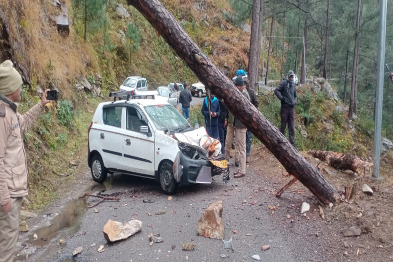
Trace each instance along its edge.
<instances>
[{"instance_id":1,"label":"person in dark blue jacket standing just behind the crashed car's hood","mask_svg":"<svg viewBox=\"0 0 393 262\"><path fill-rule=\"evenodd\" d=\"M220 102L211 95L211 106L209 111L209 104L207 97L203 100L202 115L205 117L205 126L209 137L214 139L220 138L219 135L219 116L220 116Z\"/></svg>"}]
</instances>

